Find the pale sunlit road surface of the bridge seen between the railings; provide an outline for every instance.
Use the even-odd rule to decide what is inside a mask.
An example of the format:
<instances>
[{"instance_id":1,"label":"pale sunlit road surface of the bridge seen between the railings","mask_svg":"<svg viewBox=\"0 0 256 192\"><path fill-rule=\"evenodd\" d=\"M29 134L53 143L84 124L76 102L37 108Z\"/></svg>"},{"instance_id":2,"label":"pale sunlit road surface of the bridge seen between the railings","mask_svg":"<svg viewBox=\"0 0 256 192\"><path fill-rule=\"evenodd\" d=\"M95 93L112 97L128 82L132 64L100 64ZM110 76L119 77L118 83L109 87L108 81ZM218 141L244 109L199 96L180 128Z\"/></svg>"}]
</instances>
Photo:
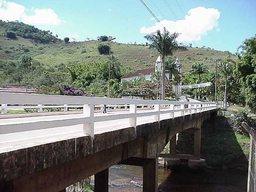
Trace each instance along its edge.
<instances>
[{"instance_id":1,"label":"pale sunlit road surface of the bridge seen between the railings","mask_svg":"<svg viewBox=\"0 0 256 192\"><path fill-rule=\"evenodd\" d=\"M165 111L168 109L161 109ZM152 112L153 109L147 110ZM145 110L137 110L137 113L145 113ZM191 110L193 113L194 110ZM94 116L108 116L113 114L125 114L129 111L112 111L103 113L94 113ZM186 113L185 113L186 114ZM180 116L180 112L174 112L174 117ZM36 116L36 117L21 117L21 118L8 118L0 119L0 125L10 122L26 122L33 120L47 120L47 119L61 119L61 118L74 118L83 117L83 114L69 114L69 115L53 115L53 116ZM160 120L169 119L170 113L160 114ZM155 122L154 116L137 117L137 125ZM128 128L129 118L117 119L110 121L102 121L94 123L94 134L110 132L118 129ZM28 148L46 143L51 143L60 140L67 140L84 136L83 124L77 124L65 127L56 127L48 129L40 129L26 132L16 132L8 134L0 134L0 153L18 150L21 148Z\"/></svg>"}]
</instances>

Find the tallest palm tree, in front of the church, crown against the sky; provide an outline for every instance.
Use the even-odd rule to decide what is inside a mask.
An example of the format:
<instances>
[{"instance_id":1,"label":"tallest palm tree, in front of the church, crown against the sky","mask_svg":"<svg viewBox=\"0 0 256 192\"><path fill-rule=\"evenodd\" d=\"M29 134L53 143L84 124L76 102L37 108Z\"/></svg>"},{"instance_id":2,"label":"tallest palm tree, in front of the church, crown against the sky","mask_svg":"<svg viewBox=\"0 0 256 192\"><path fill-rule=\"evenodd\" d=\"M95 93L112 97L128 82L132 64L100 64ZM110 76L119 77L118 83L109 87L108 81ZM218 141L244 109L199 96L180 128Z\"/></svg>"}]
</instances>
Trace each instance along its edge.
<instances>
[{"instance_id":1,"label":"tallest palm tree, in front of the church, crown against the sky","mask_svg":"<svg viewBox=\"0 0 256 192\"><path fill-rule=\"evenodd\" d=\"M163 34L160 30L157 30L155 33L144 36L151 43L150 47L155 48L162 55L162 100L165 99L165 57L171 56L174 51L185 51L187 49L186 46L176 41L178 36L178 33L170 34L165 28Z\"/></svg>"}]
</instances>

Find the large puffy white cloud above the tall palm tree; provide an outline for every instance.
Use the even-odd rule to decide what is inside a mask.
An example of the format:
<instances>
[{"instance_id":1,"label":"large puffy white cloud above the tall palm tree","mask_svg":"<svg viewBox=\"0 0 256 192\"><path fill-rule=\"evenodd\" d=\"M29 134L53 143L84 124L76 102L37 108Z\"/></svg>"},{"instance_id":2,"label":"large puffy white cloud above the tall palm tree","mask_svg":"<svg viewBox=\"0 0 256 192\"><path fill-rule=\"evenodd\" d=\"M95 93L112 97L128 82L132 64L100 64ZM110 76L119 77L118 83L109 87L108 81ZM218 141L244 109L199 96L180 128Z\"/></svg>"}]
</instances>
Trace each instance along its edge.
<instances>
[{"instance_id":1,"label":"large puffy white cloud above the tall palm tree","mask_svg":"<svg viewBox=\"0 0 256 192\"><path fill-rule=\"evenodd\" d=\"M170 33L178 32L178 41L200 41L202 35L218 26L220 12L213 8L196 7L190 9L183 20L161 20L160 22ZM151 27L140 28L140 33L152 33L157 29L163 31L161 23Z\"/></svg>"}]
</instances>

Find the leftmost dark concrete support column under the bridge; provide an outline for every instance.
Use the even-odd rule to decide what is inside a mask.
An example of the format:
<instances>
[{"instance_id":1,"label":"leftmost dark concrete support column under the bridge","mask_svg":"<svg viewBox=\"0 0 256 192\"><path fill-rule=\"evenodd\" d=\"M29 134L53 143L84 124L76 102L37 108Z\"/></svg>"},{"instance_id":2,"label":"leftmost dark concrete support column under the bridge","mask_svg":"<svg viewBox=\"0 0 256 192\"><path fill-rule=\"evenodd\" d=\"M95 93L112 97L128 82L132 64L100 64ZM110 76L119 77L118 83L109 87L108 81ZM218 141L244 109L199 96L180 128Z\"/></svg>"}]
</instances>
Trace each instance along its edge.
<instances>
[{"instance_id":1,"label":"leftmost dark concrete support column under the bridge","mask_svg":"<svg viewBox=\"0 0 256 192\"><path fill-rule=\"evenodd\" d=\"M94 192L108 192L108 169L94 175Z\"/></svg>"}]
</instances>

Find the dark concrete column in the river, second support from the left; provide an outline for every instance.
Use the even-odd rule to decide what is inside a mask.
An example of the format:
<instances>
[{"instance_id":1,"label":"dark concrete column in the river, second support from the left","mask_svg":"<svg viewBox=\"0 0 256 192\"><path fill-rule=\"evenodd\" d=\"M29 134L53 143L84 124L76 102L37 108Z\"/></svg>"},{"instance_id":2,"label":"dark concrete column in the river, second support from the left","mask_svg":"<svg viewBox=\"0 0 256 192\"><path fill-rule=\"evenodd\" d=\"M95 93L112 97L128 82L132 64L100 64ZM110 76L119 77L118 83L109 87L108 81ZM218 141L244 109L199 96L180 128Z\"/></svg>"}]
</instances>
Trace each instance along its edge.
<instances>
[{"instance_id":1,"label":"dark concrete column in the river, second support from the left","mask_svg":"<svg viewBox=\"0 0 256 192\"><path fill-rule=\"evenodd\" d=\"M143 192L157 192L158 158L144 159L143 164Z\"/></svg>"}]
</instances>

